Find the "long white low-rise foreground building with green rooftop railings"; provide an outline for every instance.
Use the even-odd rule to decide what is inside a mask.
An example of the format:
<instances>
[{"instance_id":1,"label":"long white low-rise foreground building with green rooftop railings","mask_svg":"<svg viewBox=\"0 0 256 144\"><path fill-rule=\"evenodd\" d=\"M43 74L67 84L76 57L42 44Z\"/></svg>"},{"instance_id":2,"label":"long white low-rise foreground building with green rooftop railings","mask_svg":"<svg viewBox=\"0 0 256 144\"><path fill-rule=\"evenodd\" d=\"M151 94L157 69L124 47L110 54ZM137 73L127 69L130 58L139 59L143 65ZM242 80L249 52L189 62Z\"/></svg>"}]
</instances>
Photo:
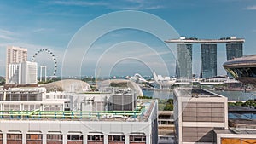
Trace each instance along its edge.
<instances>
[{"instance_id":1,"label":"long white low-rise foreground building with green rooftop railings","mask_svg":"<svg viewBox=\"0 0 256 144\"><path fill-rule=\"evenodd\" d=\"M47 91L1 91L0 144L158 143L157 100L131 99L131 110L109 111L105 104L114 93Z\"/></svg>"}]
</instances>

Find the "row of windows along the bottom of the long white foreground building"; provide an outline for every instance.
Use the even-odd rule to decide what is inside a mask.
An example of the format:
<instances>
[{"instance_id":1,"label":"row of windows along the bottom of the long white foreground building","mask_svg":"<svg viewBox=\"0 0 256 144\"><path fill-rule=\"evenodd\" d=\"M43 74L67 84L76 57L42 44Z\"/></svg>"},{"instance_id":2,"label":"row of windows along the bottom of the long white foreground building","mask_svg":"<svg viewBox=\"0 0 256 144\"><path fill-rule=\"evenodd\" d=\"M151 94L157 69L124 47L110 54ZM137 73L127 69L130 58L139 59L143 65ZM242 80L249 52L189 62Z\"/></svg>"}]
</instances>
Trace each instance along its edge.
<instances>
[{"instance_id":1,"label":"row of windows along the bottom of the long white foreground building","mask_svg":"<svg viewBox=\"0 0 256 144\"><path fill-rule=\"evenodd\" d=\"M84 135L67 135L67 141L83 141ZM0 134L0 140L3 134ZM27 134L26 141L42 141L42 134ZM63 135L47 135L47 141L62 141ZM22 141L22 134L7 134L7 141ZM104 135L87 135L87 141L104 141ZM125 141L125 135L108 135L108 141ZM130 142L146 142L144 135L130 135Z\"/></svg>"}]
</instances>

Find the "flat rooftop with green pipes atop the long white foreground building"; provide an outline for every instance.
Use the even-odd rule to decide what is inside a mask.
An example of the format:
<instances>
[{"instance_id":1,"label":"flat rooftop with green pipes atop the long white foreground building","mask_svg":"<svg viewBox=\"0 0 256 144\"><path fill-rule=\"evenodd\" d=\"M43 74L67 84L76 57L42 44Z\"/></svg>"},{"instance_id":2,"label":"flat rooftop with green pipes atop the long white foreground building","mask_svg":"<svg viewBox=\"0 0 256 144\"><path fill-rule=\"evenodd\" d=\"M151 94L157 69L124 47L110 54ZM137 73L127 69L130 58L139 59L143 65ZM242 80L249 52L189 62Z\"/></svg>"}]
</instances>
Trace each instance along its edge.
<instances>
[{"instance_id":1,"label":"flat rooftop with green pipes atop the long white foreground building","mask_svg":"<svg viewBox=\"0 0 256 144\"><path fill-rule=\"evenodd\" d=\"M139 100L134 111L0 111L0 120L75 120L75 121L138 121L146 122L156 100Z\"/></svg>"}]
</instances>

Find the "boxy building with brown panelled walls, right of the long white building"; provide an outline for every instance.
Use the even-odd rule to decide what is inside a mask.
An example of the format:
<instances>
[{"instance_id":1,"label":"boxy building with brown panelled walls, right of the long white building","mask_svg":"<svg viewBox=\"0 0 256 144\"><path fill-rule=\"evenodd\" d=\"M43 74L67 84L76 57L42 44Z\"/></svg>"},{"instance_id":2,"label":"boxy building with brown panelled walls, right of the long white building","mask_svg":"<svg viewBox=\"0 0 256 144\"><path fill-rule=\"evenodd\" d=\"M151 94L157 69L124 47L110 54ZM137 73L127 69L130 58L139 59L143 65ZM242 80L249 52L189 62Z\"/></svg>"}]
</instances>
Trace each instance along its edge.
<instances>
[{"instance_id":1,"label":"boxy building with brown panelled walls, right of the long white building","mask_svg":"<svg viewBox=\"0 0 256 144\"><path fill-rule=\"evenodd\" d=\"M227 97L205 89L173 90L176 143L213 143L214 129L228 128Z\"/></svg>"}]
</instances>

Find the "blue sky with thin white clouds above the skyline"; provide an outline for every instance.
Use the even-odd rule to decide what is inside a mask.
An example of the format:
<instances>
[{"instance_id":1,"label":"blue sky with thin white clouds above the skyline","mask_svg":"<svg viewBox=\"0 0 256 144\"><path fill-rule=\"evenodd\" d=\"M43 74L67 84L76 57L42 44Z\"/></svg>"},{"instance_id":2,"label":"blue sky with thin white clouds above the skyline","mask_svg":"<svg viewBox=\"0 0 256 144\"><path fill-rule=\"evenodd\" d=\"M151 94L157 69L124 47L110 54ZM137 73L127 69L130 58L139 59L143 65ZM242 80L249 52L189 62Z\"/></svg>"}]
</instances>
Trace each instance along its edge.
<instances>
[{"instance_id":1,"label":"blue sky with thin white clouds above the skyline","mask_svg":"<svg viewBox=\"0 0 256 144\"><path fill-rule=\"evenodd\" d=\"M0 17L0 76L8 45L28 49L28 60L38 49L50 49L59 76L173 76L175 46L164 41L179 36L242 37L244 55L256 54L255 0L1 0ZM100 33L104 28L112 31ZM195 74L200 53L193 45ZM218 44L218 75L226 73L225 60L225 45ZM53 73L50 55L36 61Z\"/></svg>"}]
</instances>

